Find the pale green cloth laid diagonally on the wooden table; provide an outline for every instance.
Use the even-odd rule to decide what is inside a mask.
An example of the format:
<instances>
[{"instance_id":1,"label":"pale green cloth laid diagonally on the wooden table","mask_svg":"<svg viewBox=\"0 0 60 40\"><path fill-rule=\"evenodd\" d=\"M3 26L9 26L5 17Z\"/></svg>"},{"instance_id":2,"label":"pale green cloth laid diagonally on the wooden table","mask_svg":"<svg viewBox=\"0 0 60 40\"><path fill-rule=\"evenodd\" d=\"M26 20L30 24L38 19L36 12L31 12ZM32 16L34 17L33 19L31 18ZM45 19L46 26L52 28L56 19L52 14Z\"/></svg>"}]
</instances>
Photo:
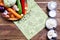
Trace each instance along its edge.
<instances>
[{"instance_id":1,"label":"pale green cloth laid diagonally on the wooden table","mask_svg":"<svg viewBox=\"0 0 60 40\"><path fill-rule=\"evenodd\" d=\"M48 18L34 0L27 0L28 13L19 21L14 21L27 39L31 39L45 27Z\"/></svg>"}]
</instances>

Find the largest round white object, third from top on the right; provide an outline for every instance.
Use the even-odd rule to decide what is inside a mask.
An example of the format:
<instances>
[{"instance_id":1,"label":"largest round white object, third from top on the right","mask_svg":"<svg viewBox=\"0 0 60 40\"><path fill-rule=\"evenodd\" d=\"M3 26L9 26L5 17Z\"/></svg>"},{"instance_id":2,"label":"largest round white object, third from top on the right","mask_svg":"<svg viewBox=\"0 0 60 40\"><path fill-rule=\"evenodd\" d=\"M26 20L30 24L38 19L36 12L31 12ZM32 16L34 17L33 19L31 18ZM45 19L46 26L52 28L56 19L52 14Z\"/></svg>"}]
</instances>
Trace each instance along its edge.
<instances>
[{"instance_id":1,"label":"largest round white object, third from top on the right","mask_svg":"<svg viewBox=\"0 0 60 40\"><path fill-rule=\"evenodd\" d=\"M47 27L47 29L54 29L54 28L56 28L57 27L56 19L49 18L46 21L46 27Z\"/></svg>"}]
</instances>

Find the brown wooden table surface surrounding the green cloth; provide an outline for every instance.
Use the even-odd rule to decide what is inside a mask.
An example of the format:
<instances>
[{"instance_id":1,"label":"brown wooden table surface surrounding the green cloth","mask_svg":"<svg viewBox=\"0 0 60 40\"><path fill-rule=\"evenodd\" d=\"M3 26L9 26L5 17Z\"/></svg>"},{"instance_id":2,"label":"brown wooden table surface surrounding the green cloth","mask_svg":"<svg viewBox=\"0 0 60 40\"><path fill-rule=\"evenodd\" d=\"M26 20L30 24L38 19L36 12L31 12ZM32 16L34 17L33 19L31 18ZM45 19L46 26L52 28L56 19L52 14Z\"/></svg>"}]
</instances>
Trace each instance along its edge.
<instances>
[{"instance_id":1,"label":"brown wooden table surface surrounding the green cloth","mask_svg":"<svg viewBox=\"0 0 60 40\"><path fill-rule=\"evenodd\" d=\"M35 0L37 4L43 9L45 13L47 13L47 3L51 0ZM58 33L57 40L60 40L60 0L54 0L57 2L57 16L55 19L57 19L58 26L56 28L56 31ZM41 32L39 32L37 35L35 35L31 40L47 40L46 34L48 30L43 29ZM0 15L0 40L27 40L25 36L22 34L22 32L17 28L17 26L11 22L4 20Z\"/></svg>"}]
</instances>

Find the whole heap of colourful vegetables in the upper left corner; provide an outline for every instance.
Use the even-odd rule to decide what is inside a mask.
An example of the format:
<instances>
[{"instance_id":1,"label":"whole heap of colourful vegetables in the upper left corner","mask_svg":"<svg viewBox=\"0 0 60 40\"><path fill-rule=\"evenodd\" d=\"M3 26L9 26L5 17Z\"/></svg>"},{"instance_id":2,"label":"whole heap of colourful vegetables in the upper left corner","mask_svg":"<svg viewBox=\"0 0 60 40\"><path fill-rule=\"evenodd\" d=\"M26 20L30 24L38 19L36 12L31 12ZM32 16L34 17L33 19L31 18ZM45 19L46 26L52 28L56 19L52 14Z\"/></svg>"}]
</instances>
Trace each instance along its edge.
<instances>
[{"instance_id":1,"label":"whole heap of colourful vegetables in the upper left corner","mask_svg":"<svg viewBox=\"0 0 60 40\"><path fill-rule=\"evenodd\" d=\"M19 20L26 14L26 0L0 0L0 12L7 20Z\"/></svg>"}]
</instances>

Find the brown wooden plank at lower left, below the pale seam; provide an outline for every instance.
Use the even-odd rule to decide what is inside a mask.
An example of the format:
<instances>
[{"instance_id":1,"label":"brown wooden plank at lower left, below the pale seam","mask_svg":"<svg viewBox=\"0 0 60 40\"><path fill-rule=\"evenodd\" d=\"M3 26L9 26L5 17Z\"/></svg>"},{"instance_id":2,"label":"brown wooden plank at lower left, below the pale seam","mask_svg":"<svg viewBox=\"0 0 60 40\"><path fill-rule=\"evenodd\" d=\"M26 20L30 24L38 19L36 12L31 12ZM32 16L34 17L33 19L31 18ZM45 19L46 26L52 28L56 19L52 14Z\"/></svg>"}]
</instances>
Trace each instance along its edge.
<instances>
[{"instance_id":1,"label":"brown wooden plank at lower left, below the pale seam","mask_svg":"<svg viewBox=\"0 0 60 40\"><path fill-rule=\"evenodd\" d=\"M0 39L26 39L16 25L0 25Z\"/></svg>"}]
</instances>

